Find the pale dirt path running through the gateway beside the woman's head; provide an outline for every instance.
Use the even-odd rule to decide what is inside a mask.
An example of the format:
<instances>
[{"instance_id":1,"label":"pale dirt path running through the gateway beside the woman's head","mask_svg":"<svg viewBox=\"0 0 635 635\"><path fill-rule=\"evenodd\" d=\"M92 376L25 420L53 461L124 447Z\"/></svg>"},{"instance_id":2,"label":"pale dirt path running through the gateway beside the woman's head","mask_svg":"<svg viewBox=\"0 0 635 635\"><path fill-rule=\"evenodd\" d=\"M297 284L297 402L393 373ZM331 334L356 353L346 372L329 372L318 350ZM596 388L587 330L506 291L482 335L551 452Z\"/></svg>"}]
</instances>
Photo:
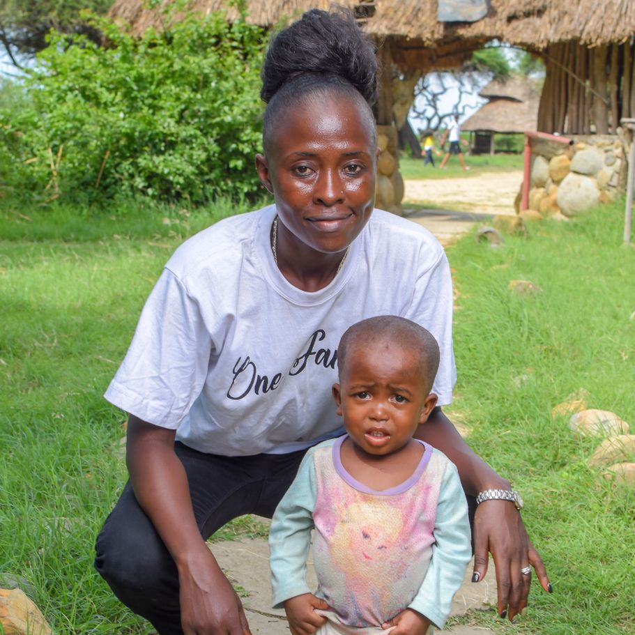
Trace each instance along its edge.
<instances>
[{"instance_id":1,"label":"pale dirt path running through the gateway beside the woman's head","mask_svg":"<svg viewBox=\"0 0 635 635\"><path fill-rule=\"evenodd\" d=\"M498 214L514 215L522 181L521 170L406 181L404 216L429 229L447 247L475 222L487 222ZM409 203L427 207L415 210L408 208Z\"/></svg>"}]
</instances>

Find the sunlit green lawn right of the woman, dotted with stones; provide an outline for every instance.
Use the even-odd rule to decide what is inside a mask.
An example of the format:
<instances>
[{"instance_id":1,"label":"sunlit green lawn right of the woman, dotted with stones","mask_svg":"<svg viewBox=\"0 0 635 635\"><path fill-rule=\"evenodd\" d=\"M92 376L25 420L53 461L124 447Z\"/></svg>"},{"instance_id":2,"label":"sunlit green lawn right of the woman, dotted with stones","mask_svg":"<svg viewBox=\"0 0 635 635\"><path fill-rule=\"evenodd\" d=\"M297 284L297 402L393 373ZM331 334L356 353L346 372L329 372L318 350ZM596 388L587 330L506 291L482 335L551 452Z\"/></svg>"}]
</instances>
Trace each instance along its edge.
<instances>
[{"instance_id":1,"label":"sunlit green lawn right of the woman, dotted with stones","mask_svg":"<svg viewBox=\"0 0 635 635\"><path fill-rule=\"evenodd\" d=\"M517 632L635 633L635 498L599 478L579 440L550 411L588 391L635 433L635 249L623 202L572 223L533 225L498 248L471 237L450 250L459 380L454 410L470 444L523 494L523 518L553 595L534 590ZM533 296L510 291L530 280ZM450 409L450 413L452 409Z\"/></svg>"}]
</instances>

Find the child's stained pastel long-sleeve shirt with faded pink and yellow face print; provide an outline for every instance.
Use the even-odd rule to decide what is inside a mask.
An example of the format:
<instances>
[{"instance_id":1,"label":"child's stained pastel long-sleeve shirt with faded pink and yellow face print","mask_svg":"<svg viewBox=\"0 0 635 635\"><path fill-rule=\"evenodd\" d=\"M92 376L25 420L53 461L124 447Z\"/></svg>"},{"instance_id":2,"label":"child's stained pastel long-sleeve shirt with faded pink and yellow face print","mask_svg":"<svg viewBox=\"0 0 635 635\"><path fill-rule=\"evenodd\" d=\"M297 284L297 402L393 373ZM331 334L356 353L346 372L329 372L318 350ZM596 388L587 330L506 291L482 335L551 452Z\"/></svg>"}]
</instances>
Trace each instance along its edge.
<instances>
[{"instance_id":1,"label":"child's stained pastel long-sleeve shirt with faded pink and yellow face print","mask_svg":"<svg viewBox=\"0 0 635 635\"><path fill-rule=\"evenodd\" d=\"M405 482L374 491L342 466L346 437L307 452L271 523L273 604L318 589L350 627L381 626L414 609L442 628L471 558L467 504L457 468L427 443Z\"/></svg>"}]
</instances>

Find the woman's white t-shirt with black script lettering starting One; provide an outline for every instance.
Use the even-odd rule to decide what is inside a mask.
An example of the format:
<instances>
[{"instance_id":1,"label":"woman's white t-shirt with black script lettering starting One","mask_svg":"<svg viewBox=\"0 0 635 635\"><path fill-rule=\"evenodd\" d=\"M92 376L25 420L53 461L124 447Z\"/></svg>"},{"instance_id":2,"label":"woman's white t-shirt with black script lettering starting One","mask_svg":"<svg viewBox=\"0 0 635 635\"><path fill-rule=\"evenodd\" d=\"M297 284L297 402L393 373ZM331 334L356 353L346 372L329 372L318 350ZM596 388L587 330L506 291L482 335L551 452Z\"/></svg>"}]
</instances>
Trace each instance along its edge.
<instances>
[{"instance_id":1,"label":"woman's white t-shirt with black script lettering starting One","mask_svg":"<svg viewBox=\"0 0 635 635\"><path fill-rule=\"evenodd\" d=\"M449 404L452 282L429 231L374 211L335 279L308 293L273 260L276 211L217 222L178 247L141 312L105 397L176 429L201 452L300 450L342 433L331 396L336 353L351 324L376 315L420 323L437 339L438 403Z\"/></svg>"}]
</instances>

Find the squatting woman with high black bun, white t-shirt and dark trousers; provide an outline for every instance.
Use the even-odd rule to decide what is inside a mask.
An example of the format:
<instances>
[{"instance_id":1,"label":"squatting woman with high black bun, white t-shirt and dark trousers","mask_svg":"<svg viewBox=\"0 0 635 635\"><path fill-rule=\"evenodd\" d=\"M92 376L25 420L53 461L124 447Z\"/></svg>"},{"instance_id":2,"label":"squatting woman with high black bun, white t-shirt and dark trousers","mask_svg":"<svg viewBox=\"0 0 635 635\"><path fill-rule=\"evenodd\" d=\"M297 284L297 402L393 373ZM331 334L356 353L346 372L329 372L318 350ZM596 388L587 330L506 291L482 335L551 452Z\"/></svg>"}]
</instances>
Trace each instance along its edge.
<instances>
[{"instance_id":1,"label":"squatting woman with high black bun, white t-shirt and dark trousers","mask_svg":"<svg viewBox=\"0 0 635 635\"><path fill-rule=\"evenodd\" d=\"M313 10L279 33L263 66L261 182L275 204L176 250L106 393L130 413L130 482L98 537L95 566L160 635L238 635L240 601L204 540L241 514L270 516L305 450L342 434L336 346L352 323L397 314L441 347L434 392L454 382L452 287L423 228L373 211L376 59L351 17ZM467 494L509 483L441 408L421 438L459 468ZM176 440L176 443L175 443ZM512 503L474 520L475 577L494 553L498 610L526 605L540 558Z\"/></svg>"}]
</instances>

